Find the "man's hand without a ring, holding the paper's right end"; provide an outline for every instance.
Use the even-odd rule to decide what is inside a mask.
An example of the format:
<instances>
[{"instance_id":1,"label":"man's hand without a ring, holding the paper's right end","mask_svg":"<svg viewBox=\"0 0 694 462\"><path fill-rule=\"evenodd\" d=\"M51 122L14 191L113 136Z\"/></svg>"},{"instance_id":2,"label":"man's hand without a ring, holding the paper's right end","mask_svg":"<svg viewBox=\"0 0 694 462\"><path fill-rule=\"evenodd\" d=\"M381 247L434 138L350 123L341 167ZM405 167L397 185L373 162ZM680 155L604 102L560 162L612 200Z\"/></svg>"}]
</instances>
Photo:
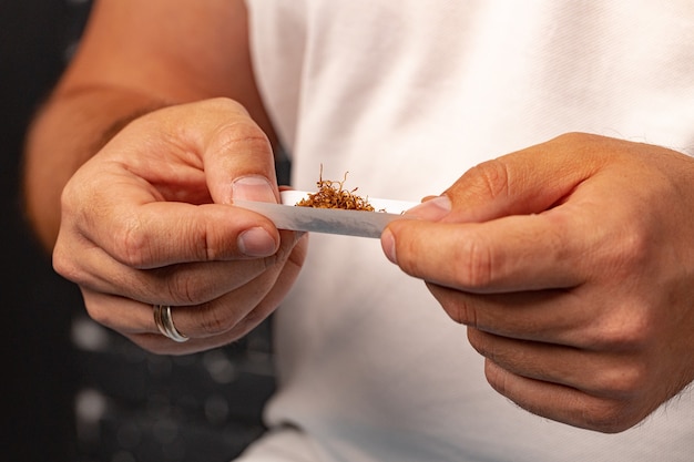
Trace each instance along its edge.
<instances>
[{"instance_id":1,"label":"man's hand without a ring, holding the paper's right end","mask_svg":"<svg viewBox=\"0 0 694 462\"><path fill-rule=\"evenodd\" d=\"M694 380L694 160L569 134L479 165L384 250L467 325L489 383L623 431Z\"/></svg>"}]
</instances>

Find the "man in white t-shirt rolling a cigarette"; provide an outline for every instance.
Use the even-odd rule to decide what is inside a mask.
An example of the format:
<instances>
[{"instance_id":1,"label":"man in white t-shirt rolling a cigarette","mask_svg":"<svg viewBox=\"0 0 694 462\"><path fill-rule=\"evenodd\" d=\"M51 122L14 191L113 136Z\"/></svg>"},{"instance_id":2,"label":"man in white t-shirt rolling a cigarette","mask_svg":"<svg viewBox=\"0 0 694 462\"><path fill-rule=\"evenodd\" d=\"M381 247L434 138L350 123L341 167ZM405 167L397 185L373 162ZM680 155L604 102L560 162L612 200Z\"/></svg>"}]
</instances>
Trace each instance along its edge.
<instances>
[{"instance_id":1,"label":"man in white t-shirt rolling a cigarette","mask_svg":"<svg viewBox=\"0 0 694 462\"><path fill-rule=\"evenodd\" d=\"M152 351L282 305L244 460L684 461L693 23L687 2L103 0L34 126L30 209L90 315ZM273 144L300 189L323 163L435 197L387 259L307 254L234 206L278 199Z\"/></svg>"}]
</instances>

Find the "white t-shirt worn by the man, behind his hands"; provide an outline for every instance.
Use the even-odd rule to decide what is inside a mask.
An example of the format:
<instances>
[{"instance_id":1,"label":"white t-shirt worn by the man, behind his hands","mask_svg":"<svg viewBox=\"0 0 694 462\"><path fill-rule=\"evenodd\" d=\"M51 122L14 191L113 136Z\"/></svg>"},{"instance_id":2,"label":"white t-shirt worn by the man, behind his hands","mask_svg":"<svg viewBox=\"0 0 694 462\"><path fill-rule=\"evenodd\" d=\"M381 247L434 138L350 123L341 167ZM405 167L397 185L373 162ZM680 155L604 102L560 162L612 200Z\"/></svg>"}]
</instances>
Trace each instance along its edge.
<instances>
[{"instance_id":1,"label":"white t-shirt worn by the man, behind his hands","mask_svg":"<svg viewBox=\"0 0 694 462\"><path fill-rule=\"evenodd\" d=\"M293 185L419 201L571 131L694 146L691 0L248 0ZM276 314L274 431L244 461L694 460L690 392L619 434L494 392L466 328L378 239L312 235Z\"/></svg>"}]
</instances>

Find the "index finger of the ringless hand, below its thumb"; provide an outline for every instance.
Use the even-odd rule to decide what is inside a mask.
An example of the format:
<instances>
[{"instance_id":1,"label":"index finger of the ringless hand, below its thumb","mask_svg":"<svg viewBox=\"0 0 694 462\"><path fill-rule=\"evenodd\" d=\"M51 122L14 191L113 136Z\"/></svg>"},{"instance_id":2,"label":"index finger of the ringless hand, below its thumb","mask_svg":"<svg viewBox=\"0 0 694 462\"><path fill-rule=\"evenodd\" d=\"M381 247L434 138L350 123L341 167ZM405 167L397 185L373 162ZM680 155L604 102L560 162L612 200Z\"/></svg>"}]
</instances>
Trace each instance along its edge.
<instances>
[{"instance_id":1,"label":"index finger of the ringless hand, below its thumb","mask_svg":"<svg viewBox=\"0 0 694 462\"><path fill-rule=\"evenodd\" d=\"M584 275L573 256L589 247L555 209L484 223L395 220L381 243L408 275L481 294L579 285Z\"/></svg>"}]
</instances>

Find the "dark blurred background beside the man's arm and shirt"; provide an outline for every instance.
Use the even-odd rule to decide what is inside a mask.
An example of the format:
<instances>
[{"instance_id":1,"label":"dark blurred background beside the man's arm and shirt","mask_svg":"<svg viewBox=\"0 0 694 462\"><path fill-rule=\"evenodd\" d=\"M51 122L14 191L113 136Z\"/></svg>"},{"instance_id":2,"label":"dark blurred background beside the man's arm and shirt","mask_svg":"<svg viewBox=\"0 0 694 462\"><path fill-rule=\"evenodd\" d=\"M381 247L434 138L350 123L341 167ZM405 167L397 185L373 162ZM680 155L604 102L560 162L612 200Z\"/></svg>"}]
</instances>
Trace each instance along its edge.
<instances>
[{"instance_id":1,"label":"dark blurred background beside the man's arm and shirt","mask_svg":"<svg viewBox=\"0 0 694 462\"><path fill-rule=\"evenodd\" d=\"M269 326L183 358L145 353L84 315L22 217L27 125L89 13L81 0L0 0L0 337L4 461L228 461L263 432Z\"/></svg>"}]
</instances>

